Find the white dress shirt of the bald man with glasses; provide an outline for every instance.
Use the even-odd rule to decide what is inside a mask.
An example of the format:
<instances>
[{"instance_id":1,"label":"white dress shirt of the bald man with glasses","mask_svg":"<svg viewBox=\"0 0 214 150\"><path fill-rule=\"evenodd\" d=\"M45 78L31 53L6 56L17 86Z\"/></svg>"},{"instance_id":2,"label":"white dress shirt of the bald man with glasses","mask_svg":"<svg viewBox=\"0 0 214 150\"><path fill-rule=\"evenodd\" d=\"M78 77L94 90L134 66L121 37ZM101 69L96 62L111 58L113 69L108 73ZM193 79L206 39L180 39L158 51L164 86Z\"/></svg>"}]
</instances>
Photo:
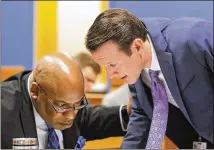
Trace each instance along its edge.
<instances>
[{"instance_id":1,"label":"white dress shirt of the bald man with glasses","mask_svg":"<svg viewBox=\"0 0 214 150\"><path fill-rule=\"evenodd\" d=\"M28 78L28 93L30 96L30 84L29 84L29 78ZM31 98L31 96L30 96ZM32 101L32 99L31 99ZM33 105L33 103L32 103ZM35 116L35 122L36 122L36 131L37 131L37 136L38 136L38 141L39 141L39 149L46 149L48 145L48 128L45 123L45 121L41 118L41 116L37 113L34 105L33 105L33 113ZM62 136L62 131L56 130L56 134L59 139L59 144L60 144L60 149L64 149L63 145L63 136Z\"/></svg>"}]
</instances>

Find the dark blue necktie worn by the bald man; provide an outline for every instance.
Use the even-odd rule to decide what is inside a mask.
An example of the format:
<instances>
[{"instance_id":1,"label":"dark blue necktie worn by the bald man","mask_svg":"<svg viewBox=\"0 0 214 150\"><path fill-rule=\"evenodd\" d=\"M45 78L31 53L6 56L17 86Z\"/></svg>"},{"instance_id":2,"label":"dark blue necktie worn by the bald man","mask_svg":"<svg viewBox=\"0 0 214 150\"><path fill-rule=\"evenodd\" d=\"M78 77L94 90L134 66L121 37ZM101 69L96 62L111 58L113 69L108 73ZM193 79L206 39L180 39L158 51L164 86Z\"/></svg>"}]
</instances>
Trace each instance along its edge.
<instances>
[{"instance_id":1,"label":"dark blue necktie worn by the bald man","mask_svg":"<svg viewBox=\"0 0 214 150\"><path fill-rule=\"evenodd\" d=\"M48 127L48 149L60 149L58 136L51 126Z\"/></svg>"}]
</instances>

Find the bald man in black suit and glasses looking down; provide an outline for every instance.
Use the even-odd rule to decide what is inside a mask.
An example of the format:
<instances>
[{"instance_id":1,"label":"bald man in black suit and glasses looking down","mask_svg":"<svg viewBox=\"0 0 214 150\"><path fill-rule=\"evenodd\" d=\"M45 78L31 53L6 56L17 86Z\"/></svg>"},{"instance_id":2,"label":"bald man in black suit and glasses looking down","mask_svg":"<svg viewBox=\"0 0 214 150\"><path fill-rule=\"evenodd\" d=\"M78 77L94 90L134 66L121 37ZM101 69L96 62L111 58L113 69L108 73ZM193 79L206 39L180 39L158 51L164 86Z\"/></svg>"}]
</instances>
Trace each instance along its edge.
<instances>
[{"instance_id":1,"label":"bald man in black suit and glasses looking down","mask_svg":"<svg viewBox=\"0 0 214 150\"><path fill-rule=\"evenodd\" d=\"M127 122L126 109L121 112ZM119 107L88 105L80 67L62 53L45 56L32 72L1 83L1 123L3 149L12 148L13 138L38 138L40 149L73 149L79 136L94 140L125 134Z\"/></svg>"}]
</instances>

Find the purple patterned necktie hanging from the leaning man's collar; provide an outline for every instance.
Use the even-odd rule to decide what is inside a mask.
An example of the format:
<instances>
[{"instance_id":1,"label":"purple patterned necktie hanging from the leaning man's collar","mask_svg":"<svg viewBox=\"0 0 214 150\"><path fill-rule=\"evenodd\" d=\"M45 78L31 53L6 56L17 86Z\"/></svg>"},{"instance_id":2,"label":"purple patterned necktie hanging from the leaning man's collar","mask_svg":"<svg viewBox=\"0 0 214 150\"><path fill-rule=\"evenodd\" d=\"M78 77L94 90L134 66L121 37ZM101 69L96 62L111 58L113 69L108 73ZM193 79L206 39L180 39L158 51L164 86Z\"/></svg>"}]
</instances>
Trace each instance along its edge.
<instances>
[{"instance_id":1,"label":"purple patterned necktie hanging from the leaning man's collar","mask_svg":"<svg viewBox=\"0 0 214 150\"><path fill-rule=\"evenodd\" d=\"M161 149L168 119L168 98L158 78L159 71L149 70L152 82L153 116L146 149Z\"/></svg>"}]
</instances>

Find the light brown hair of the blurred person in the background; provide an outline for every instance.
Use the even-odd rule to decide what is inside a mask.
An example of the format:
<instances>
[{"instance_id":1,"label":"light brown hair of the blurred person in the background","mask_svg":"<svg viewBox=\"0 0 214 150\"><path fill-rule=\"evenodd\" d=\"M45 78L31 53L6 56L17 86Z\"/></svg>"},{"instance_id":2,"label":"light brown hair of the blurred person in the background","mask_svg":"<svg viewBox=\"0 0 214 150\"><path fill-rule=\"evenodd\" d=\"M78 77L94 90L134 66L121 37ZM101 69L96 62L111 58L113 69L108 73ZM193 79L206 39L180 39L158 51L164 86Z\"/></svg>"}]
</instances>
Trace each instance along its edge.
<instances>
[{"instance_id":1,"label":"light brown hair of the blurred person in the background","mask_svg":"<svg viewBox=\"0 0 214 150\"><path fill-rule=\"evenodd\" d=\"M99 74L100 71L100 66L97 64L91 57L90 54L86 52L80 52L76 56L74 56L74 59L77 60L78 64L80 65L81 68L84 67L91 67L96 74Z\"/></svg>"}]
</instances>

